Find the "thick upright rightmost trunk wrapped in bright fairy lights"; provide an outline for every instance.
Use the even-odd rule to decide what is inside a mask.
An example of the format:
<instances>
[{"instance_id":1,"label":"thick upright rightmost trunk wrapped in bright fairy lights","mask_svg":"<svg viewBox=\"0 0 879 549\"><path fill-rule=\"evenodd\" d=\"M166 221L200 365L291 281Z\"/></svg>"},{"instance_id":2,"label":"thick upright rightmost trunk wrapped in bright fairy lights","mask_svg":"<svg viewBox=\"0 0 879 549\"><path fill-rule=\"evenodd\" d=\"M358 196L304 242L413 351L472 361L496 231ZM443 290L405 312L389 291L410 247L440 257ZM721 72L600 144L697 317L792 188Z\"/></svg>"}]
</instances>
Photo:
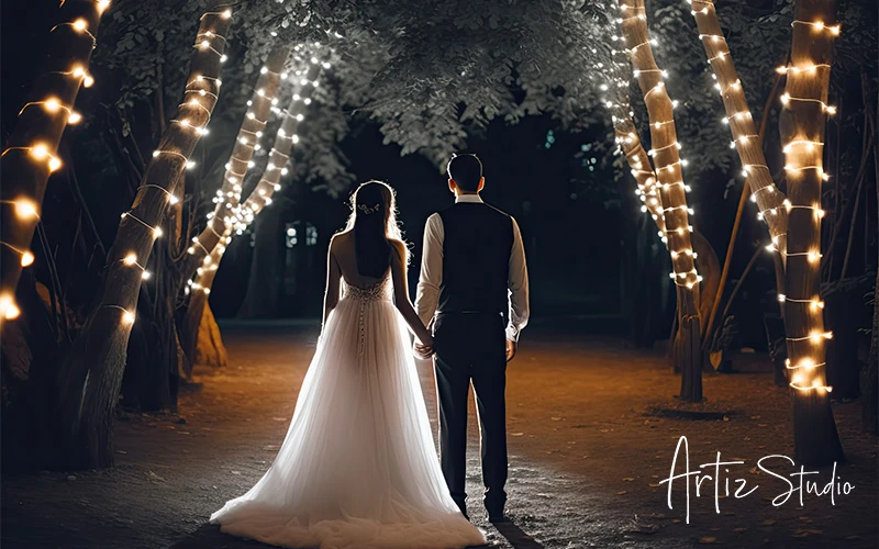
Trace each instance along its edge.
<instances>
[{"instance_id":1,"label":"thick upright rightmost trunk wrapped in bright fairy lights","mask_svg":"<svg viewBox=\"0 0 879 549\"><path fill-rule=\"evenodd\" d=\"M824 332L820 295L821 166L826 116L832 113L826 103L835 11L833 1L797 1L791 69L782 96L786 109L780 120L786 142L789 227L787 290L779 300L786 303L794 456L809 464L844 459L831 408L831 388L826 386L825 337L830 334Z\"/></svg>"}]
</instances>

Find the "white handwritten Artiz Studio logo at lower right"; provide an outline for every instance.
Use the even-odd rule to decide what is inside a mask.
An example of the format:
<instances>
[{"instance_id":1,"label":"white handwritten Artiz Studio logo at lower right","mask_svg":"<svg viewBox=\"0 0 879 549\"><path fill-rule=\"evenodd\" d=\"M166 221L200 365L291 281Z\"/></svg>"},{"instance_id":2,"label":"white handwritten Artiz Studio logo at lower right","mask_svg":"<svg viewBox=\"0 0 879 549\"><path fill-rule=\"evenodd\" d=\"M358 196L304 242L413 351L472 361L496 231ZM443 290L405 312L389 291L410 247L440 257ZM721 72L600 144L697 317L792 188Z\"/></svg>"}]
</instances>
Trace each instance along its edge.
<instances>
[{"instance_id":1,"label":"white handwritten Artiz Studio logo at lower right","mask_svg":"<svg viewBox=\"0 0 879 549\"><path fill-rule=\"evenodd\" d=\"M679 459L683 462L683 472L676 473ZM675 448L675 456L671 458L671 469L668 478L659 481L659 484L668 484L668 508L675 508L671 489L676 485L676 482L685 483L687 524L690 524L690 496L693 493L696 497L713 497L714 511L720 514L722 496L742 500L758 490L768 490L761 489L759 484L752 483L753 481L749 482L744 477L736 475L734 471L731 472L731 468L734 470L736 466L743 466L744 463L741 460L721 461L721 452L717 451L714 461L702 463L698 469L691 471L690 445L687 441L687 437L681 436L678 439L677 448ZM795 497L794 501L799 500L802 507L804 504L803 494L813 494L815 497L830 496L831 504L836 505L838 496L848 495L855 490L854 485L844 482L836 475L836 462L833 463L833 471L830 478L824 473L825 477L823 479L817 477L822 474L820 471L806 471L804 466L800 466L798 470L797 463L791 458L782 455L764 456L757 460L757 469L777 479L772 481L774 484L778 484L780 481L781 485L787 488L787 490L782 489L772 498L771 503L775 507L785 505L791 497ZM792 470L793 472L783 474L785 470Z\"/></svg>"}]
</instances>

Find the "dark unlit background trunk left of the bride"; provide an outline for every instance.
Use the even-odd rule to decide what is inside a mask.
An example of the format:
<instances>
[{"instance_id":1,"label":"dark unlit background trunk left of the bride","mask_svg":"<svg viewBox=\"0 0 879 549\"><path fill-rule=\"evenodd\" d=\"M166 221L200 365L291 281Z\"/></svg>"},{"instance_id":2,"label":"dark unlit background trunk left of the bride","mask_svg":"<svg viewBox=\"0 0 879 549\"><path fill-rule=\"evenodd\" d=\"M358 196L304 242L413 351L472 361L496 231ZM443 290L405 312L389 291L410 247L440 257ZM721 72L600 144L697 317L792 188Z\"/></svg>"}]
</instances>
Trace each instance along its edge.
<instances>
[{"instance_id":1,"label":"dark unlit background trunk left of the bride","mask_svg":"<svg viewBox=\"0 0 879 549\"><path fill-rule=\"evenodd\" d=\"M266 210L256 220L254 256L247 293L238 310L240 318L274 318L278 315L279 277L282 272L282 222L283 209ZM302 238L302 236L300 236Z\"/></svg>"}]
</instances>

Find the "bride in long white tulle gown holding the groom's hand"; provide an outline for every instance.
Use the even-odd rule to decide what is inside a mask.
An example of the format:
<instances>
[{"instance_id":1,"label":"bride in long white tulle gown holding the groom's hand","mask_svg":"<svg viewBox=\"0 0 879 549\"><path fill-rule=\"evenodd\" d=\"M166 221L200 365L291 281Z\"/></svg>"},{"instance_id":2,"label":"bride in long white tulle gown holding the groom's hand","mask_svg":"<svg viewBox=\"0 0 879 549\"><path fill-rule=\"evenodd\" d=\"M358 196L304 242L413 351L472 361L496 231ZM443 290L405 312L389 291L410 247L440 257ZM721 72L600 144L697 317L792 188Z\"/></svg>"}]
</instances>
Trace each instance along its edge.
<instances>
[{"instance_id":1,"label":"bride in long white tulle gown holding the groom's hand","mask_svg":"<svg viewBox=\"0 0 879 549\"><path fill-rule=\"evenodd\" d=\"M407 325L424 346L433 339L409 301L393 191L369 181L352 202L330 244L323 329L283 445L211 522L281 547L483 545L434 449Z\"/></svg>"}]
</instances>

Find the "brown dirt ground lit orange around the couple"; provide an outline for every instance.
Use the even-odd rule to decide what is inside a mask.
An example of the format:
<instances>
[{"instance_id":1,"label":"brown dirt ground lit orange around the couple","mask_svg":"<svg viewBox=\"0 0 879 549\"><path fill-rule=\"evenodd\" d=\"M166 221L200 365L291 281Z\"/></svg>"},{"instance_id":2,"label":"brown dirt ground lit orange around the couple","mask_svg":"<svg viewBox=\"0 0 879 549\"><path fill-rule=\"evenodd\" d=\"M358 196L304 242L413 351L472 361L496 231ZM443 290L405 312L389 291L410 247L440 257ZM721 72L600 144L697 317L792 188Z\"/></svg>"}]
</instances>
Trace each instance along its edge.
<instances>
[{"instance_id":1,"label":"brown dirt ground lit orange around the couple","mask_svg":"<svg viewBox=\"0 0 879 549\"><path fill-rule=\"evenodd\" d=\"M316 326L224 330L231 365L197 371L200 390L180 399L178 414L123 415L116 424L116 467L84 473L43 472L3 479L2 545L10 548L257 548L221 534L209 515L246 491L268 468L287 430L311 359ZM759 363L759 356L744 357ZM738 363L743 363L739 361ZM749 368L752 371L753 367ZM430 368L421 365L435 418ZM858 403L834 404L847 462L837 482L847 495L794 493L772 498L787 482L757 468L769 455L792 455L790 395L767 372L706 374L704 408L715 419L656 413L675 407L679 378L655 354L612 338L528 328L508 370L510 501L513 525L499 531L479 509L478 432L471 429L469 494L474 522L504 548L813 547L874 548L877 530L877 440L859 430ZM435 424L434 424L435 428ZM666 484L679 437L690 470L723 461L714 483L696 496L687 524L682 479L672 505ZM677 472L682 471L681 453ZM790 478L782 458L766 468ZM702 472L713 475L713 464ZM806 477L824 486L832 470ZM743 498L725 496L744 479ZM715 509L715 501L717 508ZM719 512L717 512L719 511Z\"/></svg>"}]
</instances>

